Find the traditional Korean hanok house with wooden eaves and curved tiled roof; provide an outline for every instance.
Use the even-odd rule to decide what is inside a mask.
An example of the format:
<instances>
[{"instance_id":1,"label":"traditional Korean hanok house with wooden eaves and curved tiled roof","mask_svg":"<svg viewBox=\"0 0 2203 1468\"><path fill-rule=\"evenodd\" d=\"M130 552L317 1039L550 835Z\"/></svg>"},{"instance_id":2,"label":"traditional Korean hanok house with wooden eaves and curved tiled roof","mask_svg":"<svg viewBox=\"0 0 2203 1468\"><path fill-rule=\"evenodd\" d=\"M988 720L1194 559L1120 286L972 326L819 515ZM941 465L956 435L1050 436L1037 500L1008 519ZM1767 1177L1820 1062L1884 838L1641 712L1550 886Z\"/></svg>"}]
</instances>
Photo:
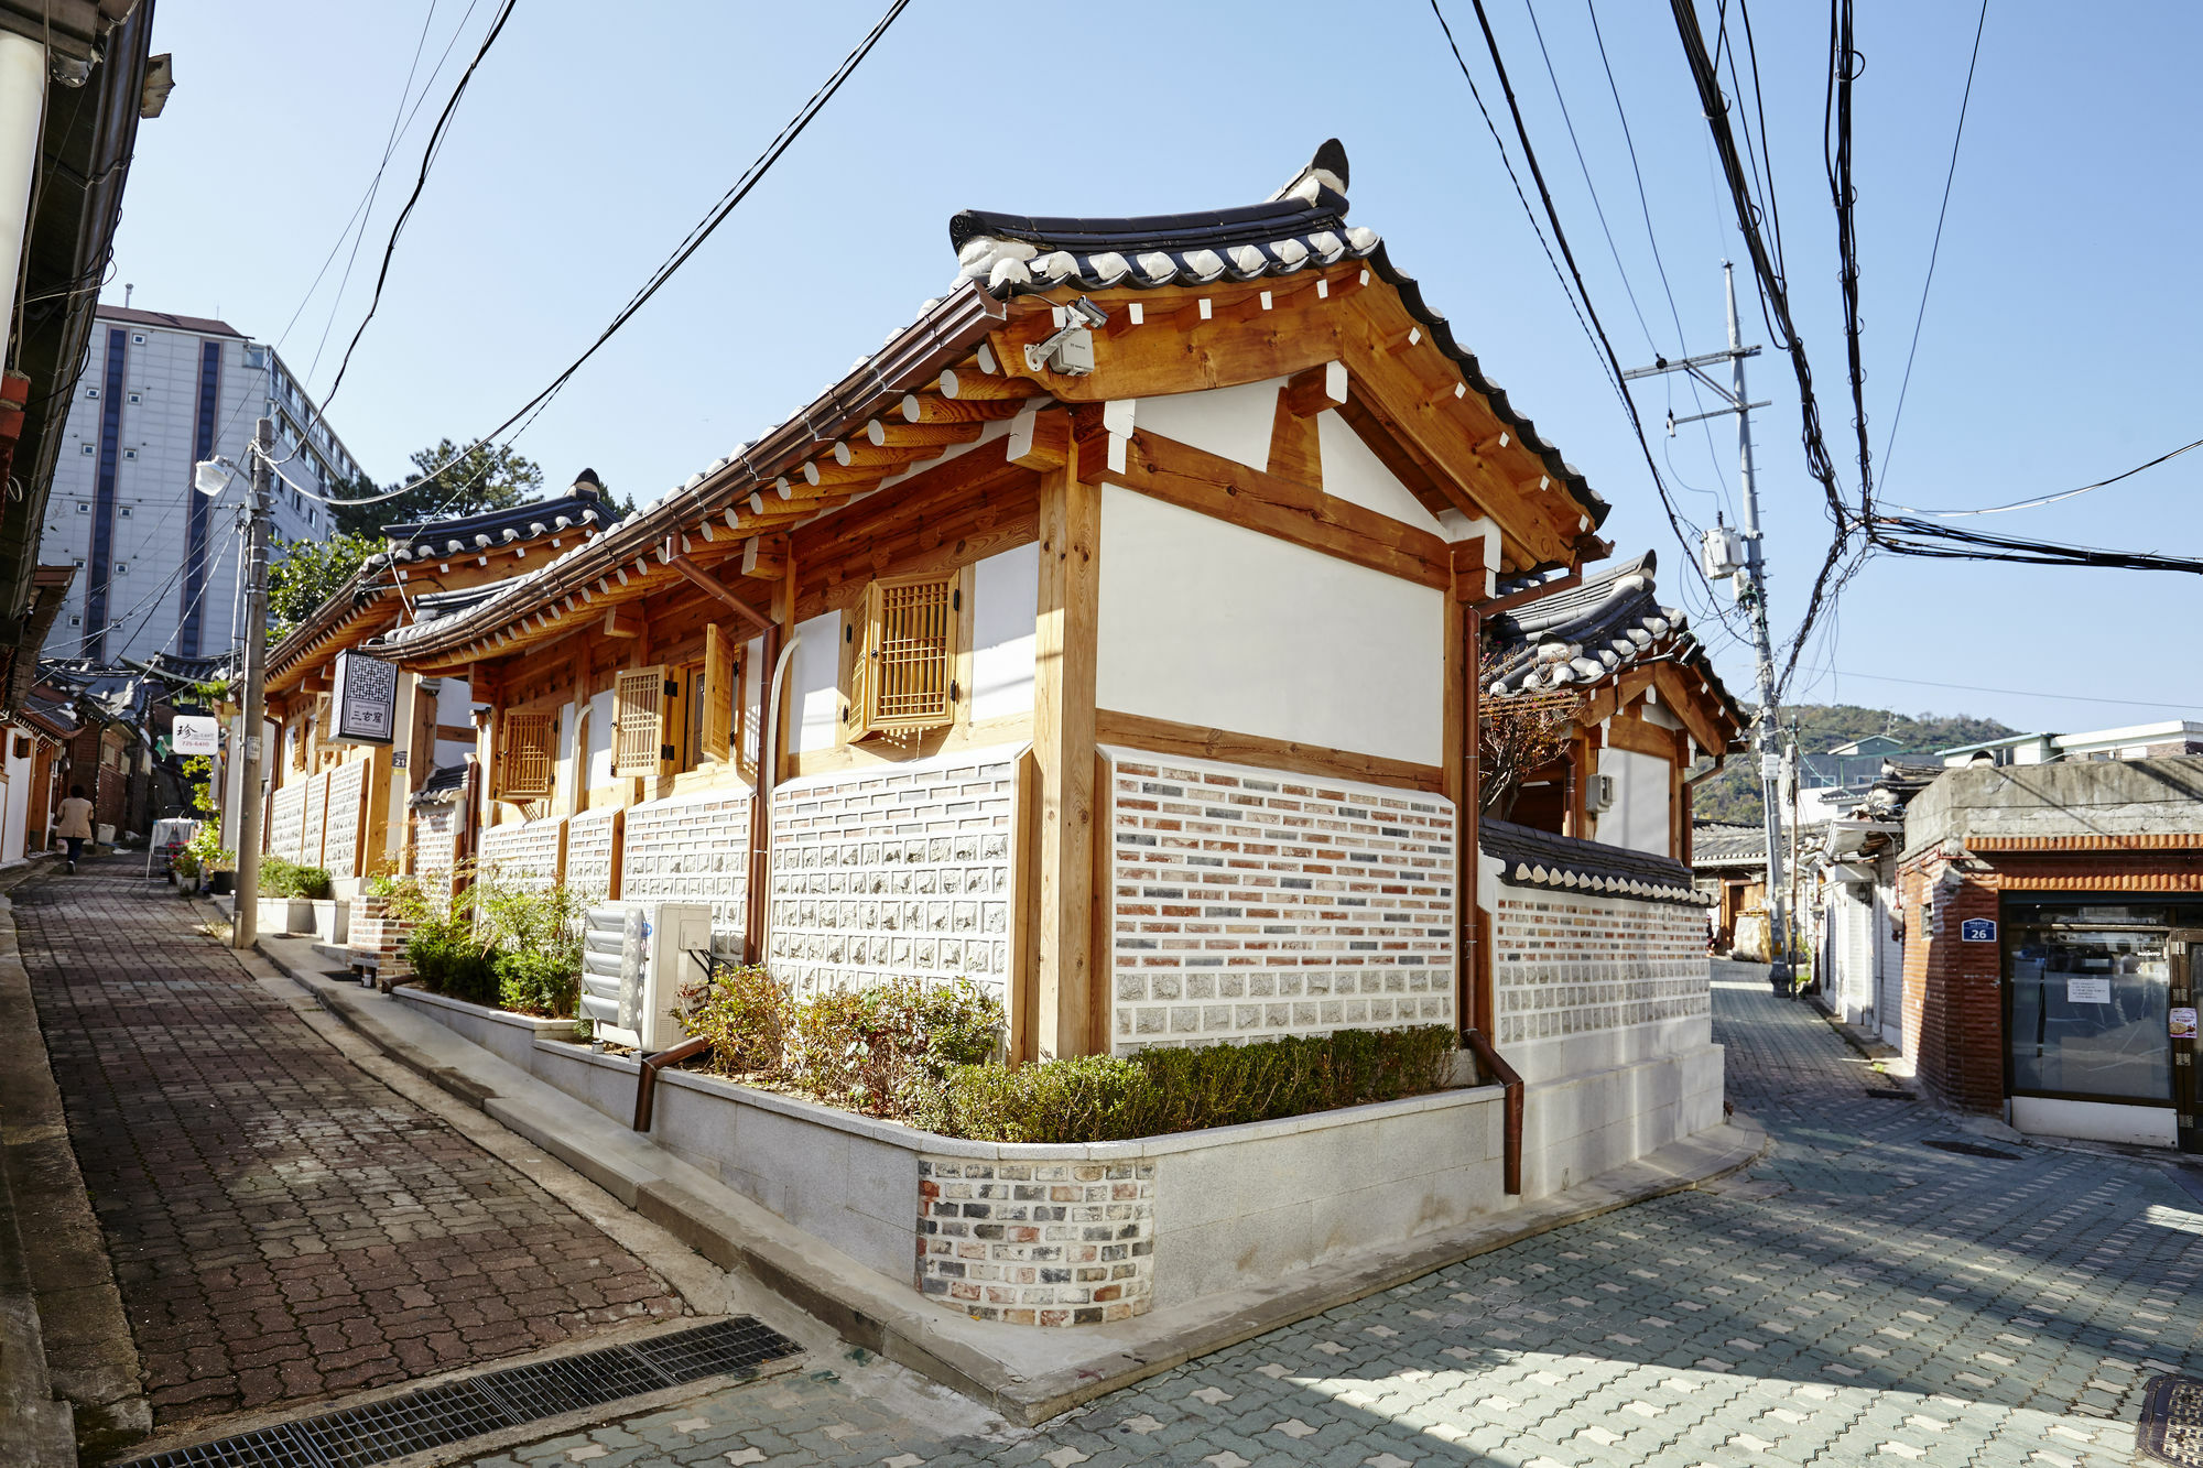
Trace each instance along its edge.
<instances>
[{"instance_id":1,"label":"traditional Korean hanok house with wooden eaves and curved tiled roof","mask_svg":"<svg viewBox=\"0 0 2203 1468\"><path fill-rule=\"evenodd\" d=\"M1326 143L1249 207L958 214L943 298L628 522L410 615L361 582L275 657L286 747L339 644L414 708L463 686L474 791L381 851L425 868L458 813L509 877L712 904L797 987L969 976L1013 1058L1476 1027L1529 1080L1531 1192L1716 1124L1672 796L1734 719L1679 624L1621 630L1580 743L1670 765L1659 851L1586 816L1586 879L1463 868L1483 611L1606 555L1606 505L1344 190ZM275 807L311 849L311 796ZM1674 871L1608 879L1637 855Z\"/></svg>"}]
</instances>

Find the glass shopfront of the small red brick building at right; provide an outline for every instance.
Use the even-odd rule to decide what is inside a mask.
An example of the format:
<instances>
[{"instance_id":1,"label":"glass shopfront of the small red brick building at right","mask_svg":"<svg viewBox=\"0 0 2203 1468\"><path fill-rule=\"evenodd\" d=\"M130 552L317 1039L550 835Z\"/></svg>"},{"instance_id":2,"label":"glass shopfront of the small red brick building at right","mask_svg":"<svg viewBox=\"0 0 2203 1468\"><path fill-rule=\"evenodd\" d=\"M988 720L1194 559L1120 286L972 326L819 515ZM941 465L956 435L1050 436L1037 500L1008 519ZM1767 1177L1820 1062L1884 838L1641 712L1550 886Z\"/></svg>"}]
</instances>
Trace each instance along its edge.
<instances>
[{"instance_id":1,"label":"glass shopfront of the small red brick building at right","mask_svg":"<svg viewBox=\"0 0 2203 1468\"><path fill-rule=\"evenodd\" d=\"M2170 1102L2166 935L2203 926L2203 906L2007 899L2003 908L2011 1091Z\"/></svg>"}]
</instances>

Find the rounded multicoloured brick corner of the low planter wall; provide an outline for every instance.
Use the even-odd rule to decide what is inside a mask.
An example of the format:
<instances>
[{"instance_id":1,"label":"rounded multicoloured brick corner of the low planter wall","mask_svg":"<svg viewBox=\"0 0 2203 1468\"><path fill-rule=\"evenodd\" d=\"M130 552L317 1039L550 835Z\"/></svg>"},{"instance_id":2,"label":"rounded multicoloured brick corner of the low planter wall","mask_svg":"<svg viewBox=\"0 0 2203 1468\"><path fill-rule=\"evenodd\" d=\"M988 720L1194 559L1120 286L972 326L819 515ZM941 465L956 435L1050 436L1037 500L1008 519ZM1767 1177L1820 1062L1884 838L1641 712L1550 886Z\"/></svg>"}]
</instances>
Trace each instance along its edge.
<instances>
[{"instance_id":1,"label":"rounded multicoloured brick corner of the low planter wall","mask_svg":"<svg viewBox=\"0 0 2203 1468\"><path fill-rule=\"evenodd\" d=\"M919 1157L919 1289L1009 1325L1146 1314L1154 1164Z\"/></svg>"}]
</instances>

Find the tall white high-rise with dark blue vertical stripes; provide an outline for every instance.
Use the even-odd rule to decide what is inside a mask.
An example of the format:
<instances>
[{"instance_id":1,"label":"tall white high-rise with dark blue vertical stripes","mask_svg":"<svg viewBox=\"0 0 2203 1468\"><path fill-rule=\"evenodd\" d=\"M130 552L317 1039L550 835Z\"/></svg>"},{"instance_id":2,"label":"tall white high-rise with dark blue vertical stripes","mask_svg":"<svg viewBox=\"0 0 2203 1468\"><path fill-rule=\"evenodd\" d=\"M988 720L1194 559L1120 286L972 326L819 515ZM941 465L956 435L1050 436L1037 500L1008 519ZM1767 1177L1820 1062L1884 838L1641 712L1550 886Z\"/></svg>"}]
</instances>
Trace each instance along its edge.
<instances>
[{"instance_id":1,"label":"tall white high-rise with dark blue vertical stripes","mask_svg":"<svg viewBox=\"0 0 2203 1468\"><path fill-rule=\"evenodd\" d=\"M46 657L97 663L214 657L242 637L247 476L192 489L203 458L245 465L253 421L275 419L269 536L326 540L359 465L273 346L227 322L99 306L46 500L40 560L75 562ZM275 555L282 555L278 544Z\"/></svg>"}]
</instances>

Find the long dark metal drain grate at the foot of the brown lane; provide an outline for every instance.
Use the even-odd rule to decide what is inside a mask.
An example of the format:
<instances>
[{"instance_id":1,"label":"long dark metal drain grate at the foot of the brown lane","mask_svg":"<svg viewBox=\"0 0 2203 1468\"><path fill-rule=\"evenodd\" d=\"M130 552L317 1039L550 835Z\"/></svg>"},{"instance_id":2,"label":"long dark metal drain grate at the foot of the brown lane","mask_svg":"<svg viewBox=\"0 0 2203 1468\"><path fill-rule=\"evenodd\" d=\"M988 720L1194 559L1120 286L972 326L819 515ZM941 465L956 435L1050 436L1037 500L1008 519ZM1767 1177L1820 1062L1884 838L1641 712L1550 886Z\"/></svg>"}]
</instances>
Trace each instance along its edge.
<instances>
[{"instance_id":1,"label":"long dark metal drain grate at the foot of the brown lane","mask_svg":"<svg viewBox=\"0 0 2203 1468\"><path fill-rule=\"evenodd\" d=\"M749 1316L734 1316L154 1453L121 1468L368 1468L707 1375L751 1375L760 1364L795 1351L797 1345L780 1331Z\"/></svg>"}]
</instances>

